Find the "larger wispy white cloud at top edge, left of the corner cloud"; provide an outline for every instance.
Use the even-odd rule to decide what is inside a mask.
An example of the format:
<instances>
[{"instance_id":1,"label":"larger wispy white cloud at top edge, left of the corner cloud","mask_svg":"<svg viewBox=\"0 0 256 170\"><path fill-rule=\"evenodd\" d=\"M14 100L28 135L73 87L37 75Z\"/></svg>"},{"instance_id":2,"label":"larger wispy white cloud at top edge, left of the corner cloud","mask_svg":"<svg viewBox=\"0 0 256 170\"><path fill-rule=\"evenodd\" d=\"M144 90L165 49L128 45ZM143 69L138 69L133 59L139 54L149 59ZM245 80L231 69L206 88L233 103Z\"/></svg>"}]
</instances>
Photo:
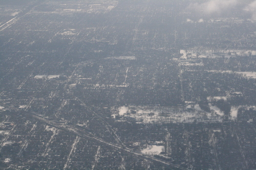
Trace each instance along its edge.
<instances>
[{"instance_id":1,"label":"larger wispy white cloud at top edge, left of the corner cloud","mask_svg":"<svg viewBox=\"0 0 256 170\"><path fill-rule=\"evenodd\" d=\"M210 0L202 4L190 4L188 9L203 11L205 14L221 14L237 5L238 0Z\"/></svg>"}]
</instances>

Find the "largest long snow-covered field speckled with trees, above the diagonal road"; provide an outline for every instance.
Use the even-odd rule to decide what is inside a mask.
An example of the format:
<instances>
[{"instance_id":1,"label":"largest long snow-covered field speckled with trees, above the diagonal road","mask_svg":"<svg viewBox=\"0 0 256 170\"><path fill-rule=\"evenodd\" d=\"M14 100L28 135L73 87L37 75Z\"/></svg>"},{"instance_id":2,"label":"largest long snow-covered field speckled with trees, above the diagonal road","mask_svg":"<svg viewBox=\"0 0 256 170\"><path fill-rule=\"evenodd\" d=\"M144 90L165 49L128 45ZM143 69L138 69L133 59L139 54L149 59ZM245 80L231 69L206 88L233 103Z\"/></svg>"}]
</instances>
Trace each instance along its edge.
<instances>
[{"instance_id":1,"label":"largest long snow-covered field speckled with trees, above the diagonal road","mask_svg":"<svg viewBox=\"0 0 256 170\"><path fill-rule=\"evenodd\" d=\"M190 108L190 109L189 109ZM112 117L119 115L137 123L163 124L163 123L191 123L222 121L224 113L219 108L210 106L211 113L207 113L199 105L188 105L187 107L165 107L165 106L121 106L113 111ZM233 109L233 115L236 110Z\"/></svg>"}]
</instances>

